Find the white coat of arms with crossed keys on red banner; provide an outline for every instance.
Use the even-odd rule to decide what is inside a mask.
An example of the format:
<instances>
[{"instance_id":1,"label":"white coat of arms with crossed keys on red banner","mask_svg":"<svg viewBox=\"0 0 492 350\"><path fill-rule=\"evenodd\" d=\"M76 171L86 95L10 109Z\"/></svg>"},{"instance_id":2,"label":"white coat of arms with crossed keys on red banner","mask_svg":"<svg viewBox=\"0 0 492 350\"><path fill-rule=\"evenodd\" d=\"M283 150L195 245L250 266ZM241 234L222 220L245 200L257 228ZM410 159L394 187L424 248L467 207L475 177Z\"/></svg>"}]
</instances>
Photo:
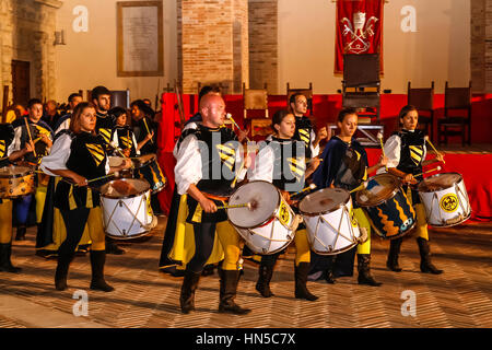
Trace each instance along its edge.
<instances>
[{"instance_id":1,"label":"white coat of arms with crossed keys on red banner","mask_svg":"<svg viewBox=\"0 0 492 350\"><path fill-rule=\"evenodd\" d=\"M343 18L342 35L345 38L343 49L345 54L363 54L371 47L368 38L374 36L374 24L378 21L375 16L371 16L365 21L364 12L355 12L353 14L353 24L348 18Z\"/></svg>"}]
</instances>

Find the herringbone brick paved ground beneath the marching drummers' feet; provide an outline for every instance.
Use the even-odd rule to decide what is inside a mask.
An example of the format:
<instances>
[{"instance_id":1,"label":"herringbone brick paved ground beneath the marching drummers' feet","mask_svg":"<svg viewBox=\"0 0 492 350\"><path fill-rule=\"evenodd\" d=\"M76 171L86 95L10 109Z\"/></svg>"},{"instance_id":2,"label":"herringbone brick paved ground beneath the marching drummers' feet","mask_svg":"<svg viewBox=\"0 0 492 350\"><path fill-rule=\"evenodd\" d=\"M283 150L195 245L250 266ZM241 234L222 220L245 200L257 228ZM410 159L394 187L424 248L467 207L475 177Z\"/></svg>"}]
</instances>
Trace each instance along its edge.
<instances>
[{"instance_id":1,"label":"herringbone brick paved ground beneath the marching drummers' feet","mask_svg":"<svg viewBox=\"0 0 492 350\"><path fill-rule=\"evenodd\" d=\"M189 315L179 312L181 279L157 270L165 223L162 217L147 240L122 244L127 254L107 256L106 278L116 288L112 293L89 290L89 256L74 259L69 289L56 291L56 260L34 255L35 231L28 229L27 241L14 242L13 247L13 261L23 272L0 272L0 327L492 327L492 223L431 230L434 262L445 271L440 276L420 272L413 238L402 245L403 271L387 270L388 242L374 237L372 271L384 284L359 285L356 272L339 278L336 284L309 282L309 290L319 296L316 302L293 298L292 249L277 266L272 281L276 296L271 299L256 292L257 267L246 262L237 302L253 312L242 317L218 313L216 273L201 279L197 311ZM87 293L87 316L72 313L79 305L73 299L78 291ZM402 315L403 291L414 292L414 317Z\"/></svg>"}]
</instances>

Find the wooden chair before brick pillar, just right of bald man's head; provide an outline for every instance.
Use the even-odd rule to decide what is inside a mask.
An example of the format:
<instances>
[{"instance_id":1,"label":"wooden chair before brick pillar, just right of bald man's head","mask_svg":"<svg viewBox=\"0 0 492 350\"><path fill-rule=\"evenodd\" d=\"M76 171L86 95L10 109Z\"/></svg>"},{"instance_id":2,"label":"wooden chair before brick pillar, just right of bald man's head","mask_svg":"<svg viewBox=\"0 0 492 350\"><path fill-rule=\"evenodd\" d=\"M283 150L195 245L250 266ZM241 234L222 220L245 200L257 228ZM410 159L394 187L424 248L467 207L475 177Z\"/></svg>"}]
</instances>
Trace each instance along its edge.
<instances>
[{"instance_id":1,"label":"wooden chair before brick pillar, just right of bald man's head","mask_svg":"<svg viewBox=\"0 0 492 350\"><path fill-rule=\"evenodd\" d=\"M265 89L246 89L243 83L243 102L244 102L244 121L250 124L251 137L255 135L267 135L267 129L271 125L268 116L268 90ZM263 117L248 117L249 110L263 110Z\"/></svg>"}]
</instances>

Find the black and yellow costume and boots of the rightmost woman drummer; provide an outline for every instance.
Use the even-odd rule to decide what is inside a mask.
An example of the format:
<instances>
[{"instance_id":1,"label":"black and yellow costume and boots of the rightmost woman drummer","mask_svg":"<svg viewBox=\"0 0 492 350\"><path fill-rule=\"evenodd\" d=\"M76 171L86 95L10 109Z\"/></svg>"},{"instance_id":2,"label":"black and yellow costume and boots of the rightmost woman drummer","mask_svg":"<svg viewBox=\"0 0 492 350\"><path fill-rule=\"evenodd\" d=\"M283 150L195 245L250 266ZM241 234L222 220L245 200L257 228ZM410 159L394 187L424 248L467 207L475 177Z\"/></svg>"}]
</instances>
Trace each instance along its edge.
<instances>
[{"instance_id":1,"label":"black and yellow costume and boots of the rightmost woman drummer","mask_svg":"<svg viewBox=\"0 0 492 350\"><path fill-rule=\"evenodd\" d=\"M425 160L425 135L422 130L400 130L394 132L385 143L385 153L388 158L387 167L396 167L405 174L422 174L422 163ZM417 176L418 182L422 180L422 175ZM443 270L437 269L431 262L431 248L429 245L427 221L425 217L425 208L420 201L417 187L403 186L403 190L408 194L412 206L417 213L417 244L421 257L420 269L422 272L442 273ZM402 243L401 238L391 240L389 243L389 253L386 266L396 272L401 271L398 265L398 256Z\"/></svg>"}]
</instances>

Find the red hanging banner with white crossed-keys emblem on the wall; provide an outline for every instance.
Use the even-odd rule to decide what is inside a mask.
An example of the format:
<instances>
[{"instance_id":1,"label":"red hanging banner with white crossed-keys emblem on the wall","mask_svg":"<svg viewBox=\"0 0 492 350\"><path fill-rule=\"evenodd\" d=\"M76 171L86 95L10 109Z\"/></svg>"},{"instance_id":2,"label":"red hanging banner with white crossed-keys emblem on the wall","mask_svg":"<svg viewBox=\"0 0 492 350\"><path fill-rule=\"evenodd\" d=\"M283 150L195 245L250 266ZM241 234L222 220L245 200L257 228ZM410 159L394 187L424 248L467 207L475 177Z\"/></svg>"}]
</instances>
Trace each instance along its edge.
<instances>
[{"instance_id":1,"label":"red hanging banner with white crossed-keys emblem on the wall","mask_svg":"<svg viewBox=\"0 0 492 350\"><path fill-rule=\"evenodd\" d=\"M383 1L337 1L335 73L343 73L344 54L379 54L383 73Z\"/></svg>"}]
</instances>

